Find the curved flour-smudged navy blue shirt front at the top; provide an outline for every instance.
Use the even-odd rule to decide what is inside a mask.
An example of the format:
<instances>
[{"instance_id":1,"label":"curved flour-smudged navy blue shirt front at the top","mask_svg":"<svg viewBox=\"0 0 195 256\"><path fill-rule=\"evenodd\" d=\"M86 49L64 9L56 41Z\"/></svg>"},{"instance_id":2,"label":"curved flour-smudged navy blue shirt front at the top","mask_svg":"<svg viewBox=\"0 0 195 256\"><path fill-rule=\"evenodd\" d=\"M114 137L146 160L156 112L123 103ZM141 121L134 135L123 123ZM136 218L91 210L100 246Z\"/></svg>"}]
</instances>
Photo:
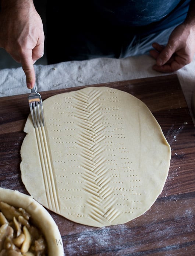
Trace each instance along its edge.
<instances>
[{"instance_id":1,"label":"curved flour-smudged navy blue shirt front at the top","mask_svg":"<svg viewBox=\"0 0 195 256\"><path fill-rule=\"evenodd\" d=\"M103 18L135 34L151 34L185 20L190 0L93 0Z\"/></svg>"}]
</instances>

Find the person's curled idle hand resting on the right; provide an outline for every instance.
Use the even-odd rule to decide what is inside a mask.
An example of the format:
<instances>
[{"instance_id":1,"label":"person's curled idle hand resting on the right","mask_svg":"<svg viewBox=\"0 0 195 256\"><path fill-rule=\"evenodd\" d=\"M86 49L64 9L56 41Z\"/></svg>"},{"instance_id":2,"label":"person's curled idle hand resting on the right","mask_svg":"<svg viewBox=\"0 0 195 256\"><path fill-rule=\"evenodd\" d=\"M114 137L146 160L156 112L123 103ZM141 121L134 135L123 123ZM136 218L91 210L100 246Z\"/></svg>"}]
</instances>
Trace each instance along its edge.
<instances>
[{"instance_id":1,"label":"person's curled idle hand resting on the right","mask_svg":"<svg viewBox=\"0 0 195 256\"><path fill-rule=\"evenodd\" d=\"M150 55L156 59L153 69L160 72L175 72L189 64L195 53L195 27L182 23L169 37L166 46L153 43Z\"/></svg>"}]
</instances>

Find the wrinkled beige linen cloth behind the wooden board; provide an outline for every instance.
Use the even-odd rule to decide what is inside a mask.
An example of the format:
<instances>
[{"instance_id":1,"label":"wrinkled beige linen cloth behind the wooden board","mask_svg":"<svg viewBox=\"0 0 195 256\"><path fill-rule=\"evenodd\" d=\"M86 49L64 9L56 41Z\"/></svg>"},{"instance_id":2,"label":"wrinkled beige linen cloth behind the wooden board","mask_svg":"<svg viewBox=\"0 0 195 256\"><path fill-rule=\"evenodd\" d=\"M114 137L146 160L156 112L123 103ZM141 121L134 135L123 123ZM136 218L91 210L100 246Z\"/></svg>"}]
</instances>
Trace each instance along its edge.
<instances>
[{"instance_id":1,"label":"wrinkled beige linen cloth behind the wooden board","mask_svg":"<svg viewBox=\"0 0 195 256\"><path fill-rule=\"evenodd\" d=\"M54 65L36 65L35 63L36 89L37 91L46 91L169 75L153 70L152 65L154 64L155 60L148 55L124 59L97 58L61 62ZM175 73L178 75L191 112L191 98L195 91L195 58L190 64ZM22 68L1 69L0 97L24 93L30 93L30 90L25 85L25 75Z\"/></svg>"}]
</instances>

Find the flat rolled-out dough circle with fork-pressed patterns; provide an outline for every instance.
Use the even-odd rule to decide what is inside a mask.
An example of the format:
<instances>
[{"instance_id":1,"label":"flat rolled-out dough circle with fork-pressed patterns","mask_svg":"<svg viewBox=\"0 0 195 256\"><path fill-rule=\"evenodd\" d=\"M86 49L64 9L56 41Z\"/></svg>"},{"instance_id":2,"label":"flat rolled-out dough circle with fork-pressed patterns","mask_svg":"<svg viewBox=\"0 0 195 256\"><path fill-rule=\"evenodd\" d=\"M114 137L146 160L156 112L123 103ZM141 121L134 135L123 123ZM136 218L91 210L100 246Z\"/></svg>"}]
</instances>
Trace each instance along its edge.
<instances>
[{"instance_id":1,"label":"flat rolled-out dough circle with fork-pressed patterns","mask_svg":"<svg viewBox=\"0 0 195 256\"><path fill-rule=\"evenodd\" d=\"M162 192L171 150L148 107L129 93L85 87L43 101L26 121L22 181L39 203L90 226L124 224Z\"/></svg>"}]
</instances>

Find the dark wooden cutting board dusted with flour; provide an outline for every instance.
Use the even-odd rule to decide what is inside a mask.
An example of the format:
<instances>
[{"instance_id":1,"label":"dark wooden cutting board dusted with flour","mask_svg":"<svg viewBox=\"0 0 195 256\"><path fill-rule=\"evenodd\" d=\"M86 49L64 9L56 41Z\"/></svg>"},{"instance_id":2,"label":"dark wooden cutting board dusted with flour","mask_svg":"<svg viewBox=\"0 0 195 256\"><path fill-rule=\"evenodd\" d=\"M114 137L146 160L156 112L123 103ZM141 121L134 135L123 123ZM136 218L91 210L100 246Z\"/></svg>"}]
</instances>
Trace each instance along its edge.
<instances>
[{"instance_id":1,"label":"dark wooden cutting board dusted with flour","mask_svg":"<svg viewBox=\"0 0 195 256\"><path fill-rule=\"evenodd\" d=\"M171 146L169 176L153 206L141 217L123 225L95 228L49 211L61 232L62 241L56 241L58 246L64 246L65 255L71 256L195 255L195 131L177 76L95 86L127 91L149 107ZM40 94L44 100L81 88ZM0 187L25 194L28 192L21 181L20 148L28 114L28 94L0 98Z\"/></svg>"}]
</instances>

